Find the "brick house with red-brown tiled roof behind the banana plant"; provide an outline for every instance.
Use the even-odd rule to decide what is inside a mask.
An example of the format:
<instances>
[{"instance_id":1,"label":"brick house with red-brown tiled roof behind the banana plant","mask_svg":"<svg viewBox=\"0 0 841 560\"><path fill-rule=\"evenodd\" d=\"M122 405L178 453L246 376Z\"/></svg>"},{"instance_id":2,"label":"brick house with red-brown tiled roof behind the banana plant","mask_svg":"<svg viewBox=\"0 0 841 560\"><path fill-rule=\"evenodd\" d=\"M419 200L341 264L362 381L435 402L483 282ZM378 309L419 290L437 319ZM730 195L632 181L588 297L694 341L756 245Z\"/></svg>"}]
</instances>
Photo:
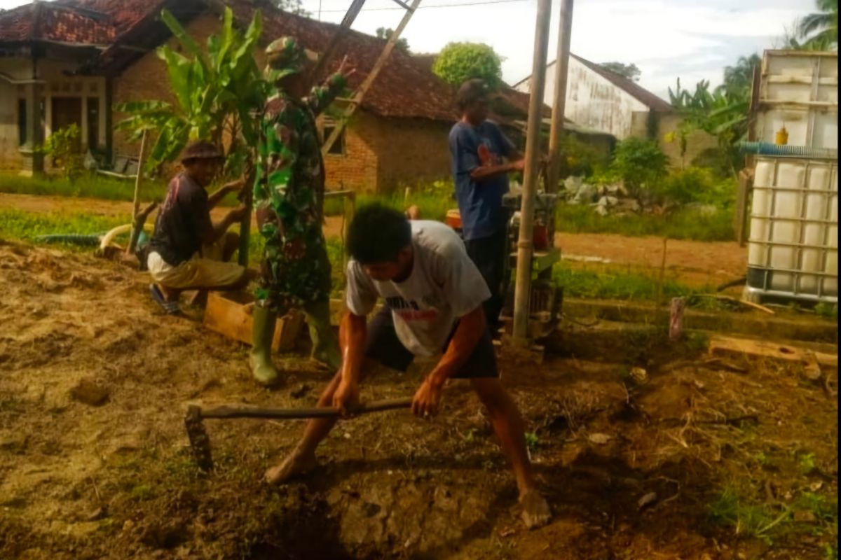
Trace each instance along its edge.
<instances>
[{"instance_id":1,"label":"brick house with red-brown tiled roof behind the banana plant","mask_svg":"<svg viewBox=\"0 0 841 560\"><path fill-rule=\"evenodd\" d=\"M81 128L81 149L108 158L137 154L139 146L114 132L124 118L114 107L174 102L155 53L173 41L161 9L204 44L220 29L223 5L241 26L261 9L263 44L294 35L317 52L338 29L284 13L268 0L56 0L0 12L0 168L39 171L43 161L33 147L70 123ZM357 67L351 88L368 75L384 44L356 31L341 40L336 52ZM528 95L509 90L504 97L507 114L495 118L503 124L524 118ZM394 50L325 158L328 188L386 192L446 177L447 133L457 118L452 87L432 74L429 61ZM321 132L329 133L331 124L321 118Z\"/></svg>"}]
</instances>

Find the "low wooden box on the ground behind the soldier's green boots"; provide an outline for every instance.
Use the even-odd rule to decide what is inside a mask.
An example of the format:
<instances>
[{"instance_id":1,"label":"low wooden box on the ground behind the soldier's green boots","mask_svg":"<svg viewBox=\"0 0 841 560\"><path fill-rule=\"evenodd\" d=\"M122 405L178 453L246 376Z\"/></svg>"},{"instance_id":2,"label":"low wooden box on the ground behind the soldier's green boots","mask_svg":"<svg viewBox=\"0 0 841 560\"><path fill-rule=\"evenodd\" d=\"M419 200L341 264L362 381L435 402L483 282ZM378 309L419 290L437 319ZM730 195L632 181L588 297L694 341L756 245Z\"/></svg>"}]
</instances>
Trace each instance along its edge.
<instances>
[{"instance_id":1,"label":"low wooden box on the ground behind the soldier's green boots","mask_svg":"<svg viewBox=\"0 0 841 560\"><path fill-rule=\"evenodd\" d=\"M253 299L245 294L211 291L204 308L204 326L225 337L251 344L254 319L248 306L250 303L253 303ZM289 311L279 317L272 349L276 352L292 350L303 325L304 316L300 311Z\"/></svg>"}]
</instances>

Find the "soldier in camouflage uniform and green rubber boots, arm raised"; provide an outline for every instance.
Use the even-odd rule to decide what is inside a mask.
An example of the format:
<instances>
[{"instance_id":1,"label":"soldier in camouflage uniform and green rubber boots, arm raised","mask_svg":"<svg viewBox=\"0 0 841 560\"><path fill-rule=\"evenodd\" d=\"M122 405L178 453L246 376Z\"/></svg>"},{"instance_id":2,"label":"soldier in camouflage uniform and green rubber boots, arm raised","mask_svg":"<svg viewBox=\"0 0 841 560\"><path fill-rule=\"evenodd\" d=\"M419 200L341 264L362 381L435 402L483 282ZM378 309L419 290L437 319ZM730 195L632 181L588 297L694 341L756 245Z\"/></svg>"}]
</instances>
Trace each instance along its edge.
<instances>
[{"instance_id":1,"label":"soldier in camouflage uniform and green rubber boots, arm raised","mask_svg":"<svg viewBox=\"0 0 841 560\"><path fill-rule=\"evenodd\" d=\"M258 147L254 206L266 240L262 280L254 308L251 368L263 385L278 380L272 364L272 337L278 313L291 307L307 317L313 357L341 367L336 336L330 325L331 266L321 230L324 206L324 160L315 117L346 85L342 61L324 86L307 94L314 56L291 37L266 49L267 79L278 91L263 113Z\"/></svg>"}]
</instances>

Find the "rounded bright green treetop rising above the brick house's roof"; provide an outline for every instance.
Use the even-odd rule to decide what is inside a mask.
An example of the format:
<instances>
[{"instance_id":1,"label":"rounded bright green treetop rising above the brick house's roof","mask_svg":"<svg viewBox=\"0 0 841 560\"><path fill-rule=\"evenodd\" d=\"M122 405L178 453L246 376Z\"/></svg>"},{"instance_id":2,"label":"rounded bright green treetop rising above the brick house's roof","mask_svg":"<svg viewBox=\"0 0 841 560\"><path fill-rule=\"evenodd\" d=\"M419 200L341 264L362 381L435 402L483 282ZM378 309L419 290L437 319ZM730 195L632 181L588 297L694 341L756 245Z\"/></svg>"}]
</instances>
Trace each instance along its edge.
<instances>
[{"instance_id":1,"label":"rounded bright green treetop rising above the brick house's roof","mask_svg":"<svg viewBox=\"0 0 841 560\"><path fill-rule=\"evenodd\" d=\"M432 65L432 71L453 86L481 78L491 87L502 84L502 59L484 43L450 43Z\"/></svg>"}]
</instances>

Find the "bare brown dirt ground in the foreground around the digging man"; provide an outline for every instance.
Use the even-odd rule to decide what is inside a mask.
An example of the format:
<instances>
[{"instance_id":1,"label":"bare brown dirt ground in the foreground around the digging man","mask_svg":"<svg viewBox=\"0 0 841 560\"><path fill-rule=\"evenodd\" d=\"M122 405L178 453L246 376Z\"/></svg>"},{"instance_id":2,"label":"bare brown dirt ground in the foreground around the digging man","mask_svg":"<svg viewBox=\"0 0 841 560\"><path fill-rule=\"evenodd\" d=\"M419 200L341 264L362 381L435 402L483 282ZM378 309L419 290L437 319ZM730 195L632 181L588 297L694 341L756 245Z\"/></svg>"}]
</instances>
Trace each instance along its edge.
<instances>
[{"instance_id":1,"label":"bare brown dirt ground in the foreground around the digging man","mask_svg":"<svg viewBox=\"0 0 841 560\"><path fill-rule=\"evenodd\" d=\"M205 331L198 311L163 316L143 276L82 254L0 242L0 290L3 558L831 557L837 502L834 528L808 504L838 491L836 370L812 382L653 339L613 345L623 363L501 364L554 513L526 531L462 385L433 421L342 422L320 469L269 489L262 473L302 422L205 421L216 468L203 475L186 406L311 406L325 369L284 356L287 385L257 388L246 348ZM411 395L422 374L383 372L362 398Z\"/></svg>"}]
</instances>

